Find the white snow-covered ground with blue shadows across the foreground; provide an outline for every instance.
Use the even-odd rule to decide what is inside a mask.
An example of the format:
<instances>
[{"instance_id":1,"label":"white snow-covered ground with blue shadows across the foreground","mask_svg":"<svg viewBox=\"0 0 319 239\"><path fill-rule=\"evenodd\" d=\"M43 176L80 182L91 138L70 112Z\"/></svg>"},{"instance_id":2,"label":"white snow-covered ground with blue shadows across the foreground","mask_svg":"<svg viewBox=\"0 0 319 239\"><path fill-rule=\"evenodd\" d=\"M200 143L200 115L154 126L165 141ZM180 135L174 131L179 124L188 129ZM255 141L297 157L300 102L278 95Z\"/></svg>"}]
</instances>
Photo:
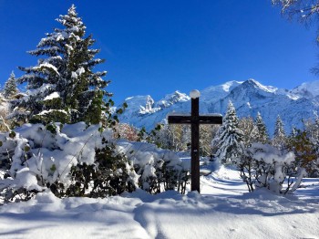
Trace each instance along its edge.
<instances>
[{"instance_id":1,"label":"white snow-covered ground with blue shadows across the foreground","mask_svg":"<svg viewBox=\"0 0 319 239\"><path fill-rule=\"evenodd\" d=\"M319 238L319 180L293 195L249 193L238 171L201 177L201 194L138 190L107 199L38 193L0 206L1 238Z\"/></svg>"}]
</instances>

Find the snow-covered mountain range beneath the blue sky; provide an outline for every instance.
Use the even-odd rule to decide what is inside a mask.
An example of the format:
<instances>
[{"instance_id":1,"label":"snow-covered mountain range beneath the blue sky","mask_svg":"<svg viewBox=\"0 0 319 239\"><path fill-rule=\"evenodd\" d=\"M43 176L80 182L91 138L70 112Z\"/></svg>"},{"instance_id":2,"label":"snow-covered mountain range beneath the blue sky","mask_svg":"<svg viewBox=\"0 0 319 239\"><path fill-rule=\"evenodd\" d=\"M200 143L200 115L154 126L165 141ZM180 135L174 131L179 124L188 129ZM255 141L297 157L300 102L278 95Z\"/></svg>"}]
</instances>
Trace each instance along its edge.
<instances>
[{"instance_id":1,"label":"snow-covered mountain range beneath the blue sky","mask_svg":"<svg viewBox=\"0 0 319 239\"><path fill-rule=\"evenodd\" d=\"M255 118L257 112L261 112L271 135L277 115L281 116L286 131L290 132L293 126L302 127L303 119L314 119L314 112L319 110L319 81L303 83L291 90L263 86L254 79L229 81L201 90L200 112L224 114L229 100L232 100L240 118ZM190 97L179 91L158 102L150 96L131 97L125 101L129 108L120 120L147 130L164 122L171 112L190 112Z\"/></svg>"}]
</instances>

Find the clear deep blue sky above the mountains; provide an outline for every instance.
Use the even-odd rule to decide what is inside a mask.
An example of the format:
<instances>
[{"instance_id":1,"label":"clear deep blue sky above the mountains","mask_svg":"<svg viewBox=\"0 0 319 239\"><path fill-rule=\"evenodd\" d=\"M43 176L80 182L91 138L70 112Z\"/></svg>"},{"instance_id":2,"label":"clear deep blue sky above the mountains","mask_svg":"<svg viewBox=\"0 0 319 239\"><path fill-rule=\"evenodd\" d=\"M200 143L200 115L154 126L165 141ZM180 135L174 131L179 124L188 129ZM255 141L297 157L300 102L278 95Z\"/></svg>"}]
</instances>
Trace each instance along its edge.
<instances>
[{"instance_id":1,"label":"clear deep blue sky above the mountains","mask_svg":"<svg viewBox=\"0 0 319 239\"><path fill-rule=\"evenodd\" d=\"M317 79L314 27L286 21L271 0L0 0L1 85L12 70L22 74L18 66L36 65L26 51L71 4L107 60L98 69L108 71L118 104L229 80L294 88Z\"/></svg>"}]
</instances>

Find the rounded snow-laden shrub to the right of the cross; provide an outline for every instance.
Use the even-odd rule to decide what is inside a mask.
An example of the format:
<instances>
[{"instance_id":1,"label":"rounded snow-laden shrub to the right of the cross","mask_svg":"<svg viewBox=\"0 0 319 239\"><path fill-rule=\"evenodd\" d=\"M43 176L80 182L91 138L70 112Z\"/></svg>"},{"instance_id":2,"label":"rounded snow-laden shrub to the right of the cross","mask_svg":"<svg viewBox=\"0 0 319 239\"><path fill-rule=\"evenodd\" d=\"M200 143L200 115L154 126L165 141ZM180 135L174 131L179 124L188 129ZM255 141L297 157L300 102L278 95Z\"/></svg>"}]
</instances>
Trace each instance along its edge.
<instances>
[{"instance_id":1,"label":"rounded snow-laden shrub to the right of the cross","mask_svg":"<svg viewBox=\"0 0 319 239\"><path fill-rule=\"evenodd\" d=\"M252 143L244 151L238 167L250 192L261 187L277 193L293 192L304 176L304 169L296 165L292 151L279 151L262 143ZM297 177L294 183L292 177Z\"/></svg>"}]
</instances>

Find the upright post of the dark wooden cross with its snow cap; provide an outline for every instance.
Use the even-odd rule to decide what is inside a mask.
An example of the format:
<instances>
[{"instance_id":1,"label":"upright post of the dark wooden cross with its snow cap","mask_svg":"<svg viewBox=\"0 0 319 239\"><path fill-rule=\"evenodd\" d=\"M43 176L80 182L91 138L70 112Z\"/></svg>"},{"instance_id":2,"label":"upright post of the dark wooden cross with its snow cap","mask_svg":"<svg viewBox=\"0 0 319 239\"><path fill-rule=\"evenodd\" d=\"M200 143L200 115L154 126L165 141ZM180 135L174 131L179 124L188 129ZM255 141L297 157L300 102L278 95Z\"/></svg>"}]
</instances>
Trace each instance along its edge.
<instances>
[{"instance_id":1,"label":"upright post of the dark wooden cross with its snow cap","mask_svg":"<svg viewBox=\"0 0 319 239\"><path fill-rule=\"evenodd\" d=\"M191 98L191 191L200 192L200 91L192 90Z\"/></svg>"}]
</instances>

